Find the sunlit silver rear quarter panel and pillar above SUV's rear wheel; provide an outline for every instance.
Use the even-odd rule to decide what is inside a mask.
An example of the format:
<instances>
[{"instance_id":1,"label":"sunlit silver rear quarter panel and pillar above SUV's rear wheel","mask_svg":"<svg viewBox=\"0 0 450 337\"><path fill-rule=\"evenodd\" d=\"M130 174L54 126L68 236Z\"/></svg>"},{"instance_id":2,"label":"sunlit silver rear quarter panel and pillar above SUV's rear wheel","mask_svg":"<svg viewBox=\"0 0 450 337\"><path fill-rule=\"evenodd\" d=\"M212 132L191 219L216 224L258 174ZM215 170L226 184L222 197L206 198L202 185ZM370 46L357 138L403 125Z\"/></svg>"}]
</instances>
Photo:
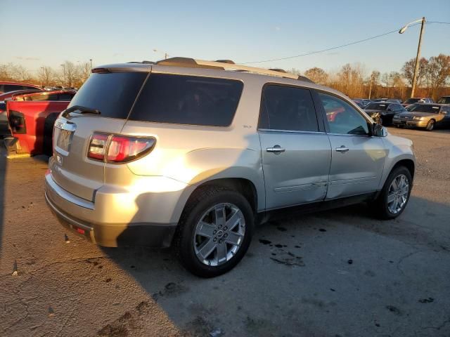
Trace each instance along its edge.
<instances>
[{"instance_id":1,"label":"sunlit silver rear quarter panel and pillar above SUV's rear wheel","mask_svg":"<svg viewBox=\"0 0 450 337\"><path fill-rule=\"evenodd\" d=\"M193 186L220 178L245 178L255 185L258 210L264 209L257 134L263 84L260 79L246 79L236 114L227 127L127 121L122 134L156 138L150 154L127 164L129 171L140 176L165 176ZM106 171L110 170L123 168L107 164ZM120 175L105 172L107 180L113 176Z\"/></svg>"}]
</instances>

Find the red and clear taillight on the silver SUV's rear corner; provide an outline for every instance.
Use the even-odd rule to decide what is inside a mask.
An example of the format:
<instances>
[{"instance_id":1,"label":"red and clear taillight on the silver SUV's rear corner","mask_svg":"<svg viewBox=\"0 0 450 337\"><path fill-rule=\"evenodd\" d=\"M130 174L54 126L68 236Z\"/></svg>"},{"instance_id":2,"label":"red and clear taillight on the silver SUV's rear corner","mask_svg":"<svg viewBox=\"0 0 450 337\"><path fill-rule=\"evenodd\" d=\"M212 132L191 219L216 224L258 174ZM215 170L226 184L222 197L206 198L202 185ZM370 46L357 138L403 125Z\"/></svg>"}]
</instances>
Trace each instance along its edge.
<instances>
[{"instance_id":1,"label":"red and clear taillight on the silver SUV's rear corner","mask_svg":"<svg viewBox=\"0 0 450 337\"><path fill-rule=\"evenodd\" d=\"M142 157L155 146L155 138L94 133L87 157L108 163L124 163Z\"/></svg>"}]
</instances>

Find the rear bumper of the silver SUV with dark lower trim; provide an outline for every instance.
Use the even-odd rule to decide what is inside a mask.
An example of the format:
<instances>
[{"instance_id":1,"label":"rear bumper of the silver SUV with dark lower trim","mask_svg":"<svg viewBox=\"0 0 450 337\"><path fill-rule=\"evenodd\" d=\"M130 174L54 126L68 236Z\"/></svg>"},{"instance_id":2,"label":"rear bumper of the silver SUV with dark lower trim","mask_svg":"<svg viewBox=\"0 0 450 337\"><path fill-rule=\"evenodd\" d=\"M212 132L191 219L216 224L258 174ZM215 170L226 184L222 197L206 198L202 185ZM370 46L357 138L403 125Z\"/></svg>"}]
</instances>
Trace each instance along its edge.
<instances>
[{"instance_id":1,"label":"rear bumper of the silver SUV with dark lower trim","mask_svg":"<svg viewBox=\"0 0 450 337\"><path fill-rule=\"evenodd\" d=\"M94 204L70 194L55 183L50 171L45 176L45 199L61 225L100 246L168 247L176 230L176 222L101 222L101 218L97 218L98 214L103 213L105 208L110 209L111 205L103 204L101 207L97 203ZM117 211L120 212L120 210L110 210L111 213ZM92 220L86 220L89 218Z\"/></svg>"}]
</instances>

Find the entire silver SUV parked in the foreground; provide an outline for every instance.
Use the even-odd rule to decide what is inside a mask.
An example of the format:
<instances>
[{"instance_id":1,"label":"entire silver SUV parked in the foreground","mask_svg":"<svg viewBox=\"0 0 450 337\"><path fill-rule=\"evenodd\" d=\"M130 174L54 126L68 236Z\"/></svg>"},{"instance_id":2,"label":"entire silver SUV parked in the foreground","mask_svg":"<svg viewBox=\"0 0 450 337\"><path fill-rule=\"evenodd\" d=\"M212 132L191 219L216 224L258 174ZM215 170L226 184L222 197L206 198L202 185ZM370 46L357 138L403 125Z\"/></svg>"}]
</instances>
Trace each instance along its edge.
<instances>
[{"instance_id":1,"label":"entire silver SUV parked in the foreground","mask_svg":"<svg viewBox=\"0 0 450 337\"><path fill-rule=\"evenodd\" d=\"M56 120L45 196L101 246L174 246L195 275L231 270L279 209L361 201L404 211L411 140L281 70L172 58L94 69Z\"/></svg>"}]
</instances>

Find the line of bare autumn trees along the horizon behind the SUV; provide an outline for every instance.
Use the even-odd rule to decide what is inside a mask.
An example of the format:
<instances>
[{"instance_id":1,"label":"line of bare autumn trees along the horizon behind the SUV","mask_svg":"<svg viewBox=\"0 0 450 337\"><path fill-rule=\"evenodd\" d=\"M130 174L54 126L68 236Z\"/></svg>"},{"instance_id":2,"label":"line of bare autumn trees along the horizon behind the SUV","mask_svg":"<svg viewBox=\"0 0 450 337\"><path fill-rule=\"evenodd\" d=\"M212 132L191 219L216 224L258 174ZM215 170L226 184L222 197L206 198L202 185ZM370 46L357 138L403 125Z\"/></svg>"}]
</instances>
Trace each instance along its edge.
<instances>
[{"instance_id":1,"label":"line of bare autumn trees along the horizon behind the SUV","mask_svg":"<svg viewBox=\"0 0 450 337\"><path fill-rule=\"evenodd\" d=\"M398 72L378 70L368 73L359 63L343 65L337 72L326 72L313 67L305 72L293 68L291 72L303 74L312 81L342 91L351 98L400 98L411 95L411 85L416 59L406 61ZM41 86L82 86L91 73L90 62L65 61L58 69L43 66L31 72L23 65L0 64L0 81L20 81ZM437 100L450 95L450 55L439 54L429 59L421 58L416 86L416 97L431 97Z\"/></svg>"}]
</instances>

